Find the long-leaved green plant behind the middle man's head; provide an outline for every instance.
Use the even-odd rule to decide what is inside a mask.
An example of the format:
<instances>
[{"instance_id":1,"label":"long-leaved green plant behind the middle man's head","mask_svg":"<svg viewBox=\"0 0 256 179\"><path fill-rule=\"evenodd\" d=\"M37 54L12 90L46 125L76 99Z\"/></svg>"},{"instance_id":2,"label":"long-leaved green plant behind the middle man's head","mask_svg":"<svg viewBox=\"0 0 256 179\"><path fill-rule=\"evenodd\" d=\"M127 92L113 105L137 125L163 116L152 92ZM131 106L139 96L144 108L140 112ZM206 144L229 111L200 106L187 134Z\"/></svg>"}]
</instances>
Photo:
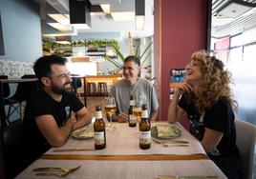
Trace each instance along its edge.
<instances>
[{"instance_id":1,"label":"long-leaved green plant behind the middle man's head","mask_svg":"<svg viewBox=\"0 0 256 179\"><path fill-rule=\"evenodd\" d=\"M152 50L150 49L152 44L153 44L153 42L150 42L148 44L148 46L146 47L146 49L143 50L141 55L139 55L139 45L137 46L136 51L135 51L135 56L137 56L139 58L140 66L142 66L146 62L146 60L149 58L150 54L152 53ZM116 51L117 56L119 57L121 62L123 63L125 57L122 54L122 52L119 50L119 48L115 44L112 44L112 47ZM122 64L118 63L116 60L114 60L108 56L106 56L105 59L108 60L109 62L111 62L113 65L115 65L118 69L122 68Z\"/></svg>"}]
</instances>

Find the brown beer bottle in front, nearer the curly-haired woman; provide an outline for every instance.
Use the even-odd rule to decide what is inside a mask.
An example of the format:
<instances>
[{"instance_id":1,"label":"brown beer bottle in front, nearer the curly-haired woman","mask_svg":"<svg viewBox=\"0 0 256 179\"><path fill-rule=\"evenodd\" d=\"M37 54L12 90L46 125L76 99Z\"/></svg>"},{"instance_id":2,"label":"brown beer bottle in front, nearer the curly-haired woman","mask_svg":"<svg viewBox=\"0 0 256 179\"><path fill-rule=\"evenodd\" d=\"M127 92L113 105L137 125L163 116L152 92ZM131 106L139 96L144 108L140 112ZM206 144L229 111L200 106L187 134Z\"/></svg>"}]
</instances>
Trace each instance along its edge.
<instances>
[{"instance_id":1,"label":"brown beer bottle in front, nearer the curly-haired woman","mask_svg":"<svg viewBox=\"0 0 256 179\"><path fill-rule=\"evenodd\" d=\"M147 114L147 105L142 105L141 121L139 122L139 148L150 149L151 125Z\"/></svg>"}]
</instances>

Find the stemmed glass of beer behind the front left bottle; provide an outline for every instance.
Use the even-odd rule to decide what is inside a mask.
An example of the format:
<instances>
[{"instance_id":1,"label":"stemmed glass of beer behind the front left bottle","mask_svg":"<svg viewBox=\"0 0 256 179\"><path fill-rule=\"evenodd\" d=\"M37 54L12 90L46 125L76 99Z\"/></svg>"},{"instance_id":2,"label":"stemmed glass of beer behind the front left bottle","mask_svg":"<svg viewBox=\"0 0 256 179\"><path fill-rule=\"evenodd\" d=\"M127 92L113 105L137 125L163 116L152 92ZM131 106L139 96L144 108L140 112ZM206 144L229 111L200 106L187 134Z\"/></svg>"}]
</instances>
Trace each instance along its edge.
<instances>
[{"instance_id":1,"label":"stemmed glass of beer behind the front left bottle","mask_svg":"<svg viewBox=\"0 0 256 179\"><path fill-rule=\"evenodd\" d=\"M105 98L105 113L107 116L107 120L110 122L109 125L107 125L107 129L113 130L113 124L112 124L112 116L116 112L116 100L115 97L106 97Z\"/></svg>"}]
</instances>

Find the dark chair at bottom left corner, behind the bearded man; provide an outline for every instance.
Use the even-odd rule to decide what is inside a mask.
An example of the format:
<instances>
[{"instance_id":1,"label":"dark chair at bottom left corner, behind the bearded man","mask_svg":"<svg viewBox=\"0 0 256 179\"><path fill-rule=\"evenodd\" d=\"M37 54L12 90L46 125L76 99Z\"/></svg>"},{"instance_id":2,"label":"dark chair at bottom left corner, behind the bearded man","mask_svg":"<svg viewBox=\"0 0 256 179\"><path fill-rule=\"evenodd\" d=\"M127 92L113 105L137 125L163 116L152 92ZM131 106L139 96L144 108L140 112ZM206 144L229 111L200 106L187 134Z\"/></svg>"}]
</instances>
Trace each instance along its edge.
<instances>
[{"instance_id":1,"label":"dark chair at bottom left corner, behind the bearded man","mask_svg":"<svg viewBox=\"0 0 256 179\"><path fill-rule=\"evenodd\" d=\"M32 163L26 149L24 131L21 121L0 129L1 178L13 178Z\"/></svg>"}]
</instances>

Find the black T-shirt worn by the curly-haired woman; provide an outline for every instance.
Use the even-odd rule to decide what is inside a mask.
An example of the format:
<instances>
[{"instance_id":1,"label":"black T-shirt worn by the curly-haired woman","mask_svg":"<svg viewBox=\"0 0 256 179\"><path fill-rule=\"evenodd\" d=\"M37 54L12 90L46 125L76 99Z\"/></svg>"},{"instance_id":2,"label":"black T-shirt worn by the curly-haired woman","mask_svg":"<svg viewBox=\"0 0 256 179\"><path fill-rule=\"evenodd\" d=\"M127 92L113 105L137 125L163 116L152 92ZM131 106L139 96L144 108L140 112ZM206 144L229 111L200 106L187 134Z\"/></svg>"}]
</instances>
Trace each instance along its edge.
<instances>
[{"instance_id":1,"label":"black T-shirt worn by the curly-haired woman","mask_svg":"<svg viewBox=\"0 0 256 179\"><path fill-rule=\"evenodd\" d=\"M206 109L202 116L195 107L195 103L188 103L185 95L179 101L181 109L186 110L190 122L190 132L203 140L205 128L224 132L224 136L217 148L208 153L210 157L239 157L236 146L236 129L234 112L227 97L222 97L211 108Z\"/></svg>"}]
</instances>

